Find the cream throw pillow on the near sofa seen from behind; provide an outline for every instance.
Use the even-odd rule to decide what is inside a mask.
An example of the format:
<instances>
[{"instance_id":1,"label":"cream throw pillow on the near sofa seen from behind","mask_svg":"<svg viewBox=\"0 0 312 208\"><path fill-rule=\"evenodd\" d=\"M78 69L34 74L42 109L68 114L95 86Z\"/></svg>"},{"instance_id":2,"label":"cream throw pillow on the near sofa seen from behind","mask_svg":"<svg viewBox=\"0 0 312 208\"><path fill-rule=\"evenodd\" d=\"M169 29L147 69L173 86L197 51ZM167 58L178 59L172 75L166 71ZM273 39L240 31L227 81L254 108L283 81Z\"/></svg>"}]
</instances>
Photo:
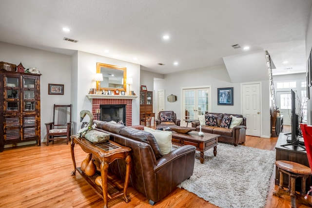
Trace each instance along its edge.
<instances>
[{"instance_id":1,"label":"cream throw pillow on the near sofa seen from behind","mask_svg":"<svg viewBox=\"0 0 312 208\"><path fill-rule=\"evenodd\" d=\"M144 127L145 132L150 132L154 135L156 142L158 144L161 155L166 155L172 150L172 132L160 131Z\"/></svg>"}]
</instances>

